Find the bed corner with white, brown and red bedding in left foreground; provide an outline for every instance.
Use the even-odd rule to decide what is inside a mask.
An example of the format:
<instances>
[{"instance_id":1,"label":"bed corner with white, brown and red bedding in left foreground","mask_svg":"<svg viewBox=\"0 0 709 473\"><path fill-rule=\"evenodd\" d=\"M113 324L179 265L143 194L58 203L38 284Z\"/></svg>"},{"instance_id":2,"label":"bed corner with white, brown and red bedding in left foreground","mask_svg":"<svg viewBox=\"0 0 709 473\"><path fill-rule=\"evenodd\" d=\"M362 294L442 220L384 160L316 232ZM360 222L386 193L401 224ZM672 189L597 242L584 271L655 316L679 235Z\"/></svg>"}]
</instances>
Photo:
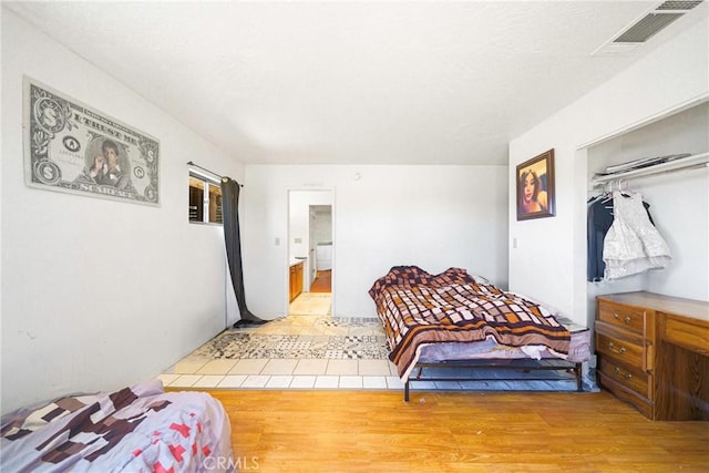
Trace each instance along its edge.
<instances>
[{"instance_id":1,"label":"bed corner with white, brown and red bedding in left foreground","mask_svg":"<svg viewBox=\"0 0 709 473\"><path fill-rule=\"evenodd\" d=\"M158 380L70 395L2 418L3 472L233 472L229 419L203 392Z\"/></svg>"}]
</instances>

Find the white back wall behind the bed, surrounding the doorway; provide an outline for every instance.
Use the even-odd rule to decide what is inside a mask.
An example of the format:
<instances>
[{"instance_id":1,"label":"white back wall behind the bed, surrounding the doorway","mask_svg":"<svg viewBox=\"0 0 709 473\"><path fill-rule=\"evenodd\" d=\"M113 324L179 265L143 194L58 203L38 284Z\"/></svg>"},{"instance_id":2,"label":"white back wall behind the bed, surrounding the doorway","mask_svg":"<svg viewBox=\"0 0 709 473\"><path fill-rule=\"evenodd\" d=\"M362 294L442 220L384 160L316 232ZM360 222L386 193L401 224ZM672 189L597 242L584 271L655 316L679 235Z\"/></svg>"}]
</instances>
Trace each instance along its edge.
<instances>
[{"instance_id":1,"label":"white back wall behind the bed, surrounding the doorway","mask_svg":"<svg viewBox=\"0 0 709 473\"><path fill-rule=\"evenodd\" d=\"M296 188L333 192L335 316L376 317L367 292L398 265L430 273L464 267L506 287L506 166L247 165L243 226L249 308L269 319L287 309L282 241L288 192Z\"/></svg>"}]
</instances>

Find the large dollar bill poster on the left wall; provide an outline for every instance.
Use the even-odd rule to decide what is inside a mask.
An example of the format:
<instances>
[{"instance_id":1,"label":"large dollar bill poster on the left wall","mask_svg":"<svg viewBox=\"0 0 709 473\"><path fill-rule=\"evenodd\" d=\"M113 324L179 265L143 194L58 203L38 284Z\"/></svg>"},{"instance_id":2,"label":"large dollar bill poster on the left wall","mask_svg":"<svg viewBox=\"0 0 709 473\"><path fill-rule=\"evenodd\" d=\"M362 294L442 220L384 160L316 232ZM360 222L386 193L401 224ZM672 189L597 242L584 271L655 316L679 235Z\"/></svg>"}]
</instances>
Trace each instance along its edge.
<instances>
[{"instance_id":1,"label":"large dollar bill poster on the left wall","mask_svg":"<svg viewBox=\"0 0 709 473\"><path fill-rule=\"evenodd\" d=\"M160 142L24 78L30 187L160 205Z\"/></svg>"}]
</instances>

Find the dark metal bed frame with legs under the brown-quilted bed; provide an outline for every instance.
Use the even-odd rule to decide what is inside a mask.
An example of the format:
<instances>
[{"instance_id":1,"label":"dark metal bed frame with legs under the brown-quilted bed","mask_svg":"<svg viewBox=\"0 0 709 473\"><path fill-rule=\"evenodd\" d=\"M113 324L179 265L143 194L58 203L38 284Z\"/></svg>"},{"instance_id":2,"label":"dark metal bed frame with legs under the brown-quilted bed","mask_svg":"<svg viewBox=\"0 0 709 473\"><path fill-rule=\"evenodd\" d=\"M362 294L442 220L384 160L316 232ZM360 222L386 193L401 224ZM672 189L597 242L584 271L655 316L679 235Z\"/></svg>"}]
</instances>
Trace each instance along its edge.
<instances>
[{"instance_id":1,"label":"dark metal bed frame with legs under the brown-quilted bed","mask_svg":"<svg viewBox=\"0 0 709 473\"><path fill-rule=\"evenodd\" d=\"M440 376L423 376L424 368L458 368L458 369L474 369L474 370L490 370L490 369L503 369L503 370L516 370L522 372L531 371L564 371L567 373L574 373L574 378L531 378L528 376L512 377L512 378L472 378L472 377L440 377ZM440 362L421 362L417 363L414 370L418 370L415 377L404 382L403 400L409 402L410 383L419 381L566 381L572 379L576 381L576 392L584 392L582 381L582 363L572 362L562 359L545 358L542 360L532 359L480 359L480 360L451 360ZM520 392L527 392L525 390L517 390ZM530 390L531 391L531 390ZM551 390L549 392L557 392ZM568 392L558 390L558 392Z\"/></svg>"}]
</instances>

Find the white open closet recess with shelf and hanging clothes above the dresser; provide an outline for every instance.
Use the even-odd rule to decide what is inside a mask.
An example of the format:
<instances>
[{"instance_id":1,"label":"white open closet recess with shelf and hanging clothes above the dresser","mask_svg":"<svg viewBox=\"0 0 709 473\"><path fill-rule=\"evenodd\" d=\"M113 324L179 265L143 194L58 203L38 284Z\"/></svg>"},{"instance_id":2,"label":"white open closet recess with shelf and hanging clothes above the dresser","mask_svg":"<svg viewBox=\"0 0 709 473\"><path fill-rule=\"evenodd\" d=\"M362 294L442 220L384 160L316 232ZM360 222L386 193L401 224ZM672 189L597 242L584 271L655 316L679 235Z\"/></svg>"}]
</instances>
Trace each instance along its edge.
<instances>
[{"instance_id":1,"label":"white open closet recess with shelf and hanging clothes above the dresser","mask_svg":"<svg viewBox=\"0 0 709 473\"><path fill-rule=\"evenodd\" d=\"M595 251L587 254L587 316L592 323L598 296L648 291L696 300L709 297L709 274L696 264L706 261L709 251L708 214L701 204L706 203L709 183L708 121L709 102L702 100L586 148L587 210L602 208L608 214L606 226L596 232L603 239L597 241ZM645 225L650 225L653 233L657 230L667 243L669 255L661 267L607 271L605 263L612 258L605 251L606 248L613 251L614 247L606 245L605 232L616 220L614 197L626 204L626 196L644 203L650 220ZM587 230L597 229L599 219L595 216L588 213ZM592 236L586 232L587 243Z\"/></svg>"}]
</instances>

